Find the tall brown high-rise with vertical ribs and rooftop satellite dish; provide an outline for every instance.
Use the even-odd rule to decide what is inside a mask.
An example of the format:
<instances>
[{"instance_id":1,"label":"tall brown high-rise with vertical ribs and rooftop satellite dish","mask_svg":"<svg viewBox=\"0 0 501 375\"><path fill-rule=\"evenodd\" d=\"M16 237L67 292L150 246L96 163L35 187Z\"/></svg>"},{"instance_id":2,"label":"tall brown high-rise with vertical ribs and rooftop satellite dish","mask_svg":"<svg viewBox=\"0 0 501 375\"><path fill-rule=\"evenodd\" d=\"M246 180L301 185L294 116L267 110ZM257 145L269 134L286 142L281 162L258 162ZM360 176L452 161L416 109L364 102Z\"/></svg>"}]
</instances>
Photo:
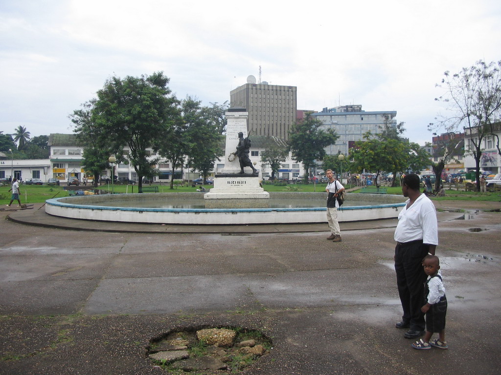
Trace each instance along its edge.
<instances>
[{"instance_id":1,"label":"tall brown high-rise with vertical ribs and rooftop satellite dish","mask_svg":"<svg viewBox=\"0 0 501 375\"><path fill-rule=\"evenodd\" d=\"M297 87L245 83L231 90L230 105L248 111L248 129L253 134L289 139L289 130L296 122Z\"/></svg>"}]
</instances>

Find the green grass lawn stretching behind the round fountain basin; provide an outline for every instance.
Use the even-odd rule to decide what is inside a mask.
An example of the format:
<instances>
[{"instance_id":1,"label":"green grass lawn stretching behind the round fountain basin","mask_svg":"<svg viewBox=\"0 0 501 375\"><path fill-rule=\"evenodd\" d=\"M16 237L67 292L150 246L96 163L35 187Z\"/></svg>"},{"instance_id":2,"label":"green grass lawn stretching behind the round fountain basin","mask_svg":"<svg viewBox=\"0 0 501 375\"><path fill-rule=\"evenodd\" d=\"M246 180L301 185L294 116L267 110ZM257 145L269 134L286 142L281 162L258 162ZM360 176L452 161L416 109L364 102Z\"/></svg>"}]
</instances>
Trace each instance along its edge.
<instances>
[{"instance_id":1,"label":"green grass lawn stretching behind the round fountain basin","mask_svg":"<svg viewBox=\"0 0 501 375\"><path fill-rule=\"evenodd\" d=\"M145 185L148 186L148 185ZM159 184L158 190L159 192L195 192L197 187L192 187L191 184L182 185L174 185L174 188L171 189L168 184ZM206 189L210 189L212 185L204 185ZM288 184L288 185L279 185L276 186L274 184L264 184L264 189L266 191L275 192L275 191L298 191L298 192L324 192L325 184L323 183L309 183L309 184ZM346 188L350 188L350 185L346 185ZM5 205L8 204L11 200L11 193L9 189L10 185L0 186L0 204ZM81 186L84 189L84 186ZM87 186L87 188L91 189L92 186ZM102 185L99 187L104 191L111 191L111 184ZM21 203L43 203L46 199L50 199L52 197L63 197L69 196L68 192L63 189L63 186L49 186L49 185L25 185L22 184L20 186L20 198ZM125 192L137 192L137 185L114 185L113 191L115 193L125 193ZM353 191L354 193L357 190ZM402 189L397 187L387 187L388 194L402 194ZM497 192L487 192L487 193L479 193L476 191L456 191L456 190L445 190L446 196L433 196L432 200L484 200L484 201L499 201L499 191ZM17 205L17 202L12 204Z\"/></svg>"}]
</instances>

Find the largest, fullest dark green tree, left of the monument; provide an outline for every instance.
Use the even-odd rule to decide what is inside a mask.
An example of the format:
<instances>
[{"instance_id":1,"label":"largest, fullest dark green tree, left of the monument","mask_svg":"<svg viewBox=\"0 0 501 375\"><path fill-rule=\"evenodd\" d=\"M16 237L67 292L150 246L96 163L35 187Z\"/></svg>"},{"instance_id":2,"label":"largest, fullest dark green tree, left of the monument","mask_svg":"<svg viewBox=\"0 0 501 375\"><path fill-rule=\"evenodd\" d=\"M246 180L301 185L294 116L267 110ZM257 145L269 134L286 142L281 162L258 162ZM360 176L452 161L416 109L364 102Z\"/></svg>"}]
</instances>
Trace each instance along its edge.
<instances>
[{"instance_id":1,"label":"largest, fullest dark green tree, left of the monument","mask_svg":"<svg viewBox=\"0 0 501 375\"><path fill-rule=\"evenodd\" d=\"M149 157L147 148L164 137L175 121L178 100L168 82L163 72L123 79L113 76L97 92L92 120L103 129L101 143L108 144L118 160L134 167L139 192L142 177L150 175L158 162L158 157Z\"/></svg>"}]
</instances>

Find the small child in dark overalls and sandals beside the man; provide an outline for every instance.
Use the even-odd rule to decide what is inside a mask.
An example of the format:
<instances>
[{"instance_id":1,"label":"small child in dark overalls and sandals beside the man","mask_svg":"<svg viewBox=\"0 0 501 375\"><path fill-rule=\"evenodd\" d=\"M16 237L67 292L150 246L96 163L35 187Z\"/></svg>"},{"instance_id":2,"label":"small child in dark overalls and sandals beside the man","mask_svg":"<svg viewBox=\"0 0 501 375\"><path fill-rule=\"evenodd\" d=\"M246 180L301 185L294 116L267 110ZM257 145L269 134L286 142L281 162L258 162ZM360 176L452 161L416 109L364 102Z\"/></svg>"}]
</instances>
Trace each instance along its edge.
<instances>
[{"instance_id":1,"label":"small child in dark overalls and sandals beside the man","mask_svg":"<svg viewBox=\"0 0 501 375\"><path fill-rule=\"evenodd\" d=\"M423 258L423 268L424 273L428 275L424 284L426 304L421 307L421 311L426 314L426 334L424 338L414 342L411 346L414 349L430 349L431 346L447 349L449 347L445 341L447 298L445 297L438 256L426 255ZM438 332L438 338L430 342L433 332Z\"/></svg>"}]
</instances>

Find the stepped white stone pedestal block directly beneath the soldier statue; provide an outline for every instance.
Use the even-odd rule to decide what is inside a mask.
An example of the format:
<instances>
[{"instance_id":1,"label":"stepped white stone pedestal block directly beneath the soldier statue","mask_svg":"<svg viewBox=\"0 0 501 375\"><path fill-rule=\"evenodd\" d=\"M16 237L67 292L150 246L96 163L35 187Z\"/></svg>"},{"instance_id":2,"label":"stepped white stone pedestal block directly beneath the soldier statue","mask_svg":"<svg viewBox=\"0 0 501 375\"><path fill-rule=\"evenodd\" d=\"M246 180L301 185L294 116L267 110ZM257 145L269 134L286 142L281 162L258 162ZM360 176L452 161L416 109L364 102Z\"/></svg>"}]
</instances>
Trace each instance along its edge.
<instances>
[{"instance_id":1,"label":"stepped white stone pedestal block directly beneath the soldier statue","mask_svg":"<svg viewBox=\"0 0 501 375\"><path fill-rule=\"evenodd\" d=\"M203 195L206 208L268 208L270 193L257 174L216 174L214 187Z\"/></svg>"}]
</instances>

